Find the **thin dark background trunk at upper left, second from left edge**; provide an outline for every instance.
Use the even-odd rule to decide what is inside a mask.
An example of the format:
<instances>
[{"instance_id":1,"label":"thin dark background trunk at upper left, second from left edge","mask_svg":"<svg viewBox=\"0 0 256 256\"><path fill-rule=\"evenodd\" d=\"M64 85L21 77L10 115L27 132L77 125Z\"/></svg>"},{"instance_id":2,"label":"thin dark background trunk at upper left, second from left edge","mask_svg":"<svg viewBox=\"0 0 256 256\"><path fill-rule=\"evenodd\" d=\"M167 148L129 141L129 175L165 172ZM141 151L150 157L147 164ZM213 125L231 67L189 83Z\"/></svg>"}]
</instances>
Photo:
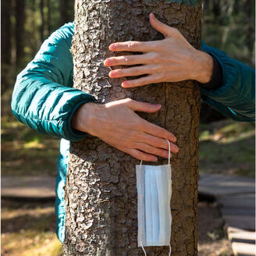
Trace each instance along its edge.
<instances>
[{"instance_id":1,"label":"thin dark background trunk at upper left, second from left edge","mask_svg":"<svg viewBox=\"0 0 256 256\"><path fill-rule=\"evenodd\" d=\"M16 0L15 5L16 17L16 68L22 63L24 56L24 24L25 24L25 1Z\"/></svg>"}]
</instances>

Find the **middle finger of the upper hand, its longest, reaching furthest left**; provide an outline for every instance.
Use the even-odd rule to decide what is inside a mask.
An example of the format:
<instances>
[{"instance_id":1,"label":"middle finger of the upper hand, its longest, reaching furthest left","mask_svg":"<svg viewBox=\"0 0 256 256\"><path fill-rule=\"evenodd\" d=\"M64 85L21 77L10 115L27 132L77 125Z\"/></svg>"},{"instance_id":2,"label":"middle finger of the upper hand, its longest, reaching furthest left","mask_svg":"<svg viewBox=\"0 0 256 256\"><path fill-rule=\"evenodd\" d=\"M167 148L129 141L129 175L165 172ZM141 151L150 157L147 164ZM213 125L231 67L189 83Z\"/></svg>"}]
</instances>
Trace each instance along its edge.
<instances>
[{"instance_id":1,"label":"middle finger of the upper hand, its longest, reaching furthest left","mask_svg":"<svg viewBox=\"0 0 256 256\"><path fill-rule=\"evenodd\" d=\"M119 57L112 57L105 59L105 66L116 66L116 65L137 65L146 64L151 62L151 53L146 53L142 55L125 55Z\"/></svg>"}]
</instances>

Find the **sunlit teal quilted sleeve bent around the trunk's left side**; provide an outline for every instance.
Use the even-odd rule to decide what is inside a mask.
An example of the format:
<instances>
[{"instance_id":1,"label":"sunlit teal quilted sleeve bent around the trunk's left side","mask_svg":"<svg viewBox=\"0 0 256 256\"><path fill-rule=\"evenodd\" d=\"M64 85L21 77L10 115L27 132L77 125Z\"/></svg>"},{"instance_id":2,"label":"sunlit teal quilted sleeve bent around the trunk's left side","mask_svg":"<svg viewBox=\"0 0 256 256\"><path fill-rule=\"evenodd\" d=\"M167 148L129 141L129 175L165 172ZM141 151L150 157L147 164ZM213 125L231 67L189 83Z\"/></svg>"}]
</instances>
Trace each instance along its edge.
<instances>
[{"instance_id":1,"label":"sunlit teal quilted sleeve bent around the trunk's left side","mask_svg":"<svg viewBox=\"0 0 256 256\"><path fill-rule=\"evenodd\" d=\"M69 52L73 23L56 30L17 76L12 112L33 130L66 140L80 140L86 133L71 127L73 113L94 97L73 89L73 59Z\"/></svg>"}]
</instances>

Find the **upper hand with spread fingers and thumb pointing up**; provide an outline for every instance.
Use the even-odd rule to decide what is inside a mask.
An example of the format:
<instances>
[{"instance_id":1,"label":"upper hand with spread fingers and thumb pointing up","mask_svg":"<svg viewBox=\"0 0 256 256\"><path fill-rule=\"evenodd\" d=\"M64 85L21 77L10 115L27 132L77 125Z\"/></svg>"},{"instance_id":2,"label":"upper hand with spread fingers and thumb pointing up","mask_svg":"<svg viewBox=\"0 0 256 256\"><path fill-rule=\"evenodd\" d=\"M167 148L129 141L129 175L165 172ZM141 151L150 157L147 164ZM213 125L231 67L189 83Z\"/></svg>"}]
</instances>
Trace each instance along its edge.
<instances>
[{"instance_id":1,"label":"upper hand with spread fingers and thumb pointing up","mask_svg":"<svg viewBox=\"0 0 256 256\"><path fill-rule=\"evenodd\" d=\"M204 84L211 79L213 59L206 52L195 49L179 30L169 27L150 14L151 26L164 34L159 41L126 41L110 44L112 52L143 52L142 55L124 55L105 59L105 66L140 65L112 70L111 78L148 76L126 80L123 87L138 87L161 82L197 80Z\"/></svg>"}]
</instances>

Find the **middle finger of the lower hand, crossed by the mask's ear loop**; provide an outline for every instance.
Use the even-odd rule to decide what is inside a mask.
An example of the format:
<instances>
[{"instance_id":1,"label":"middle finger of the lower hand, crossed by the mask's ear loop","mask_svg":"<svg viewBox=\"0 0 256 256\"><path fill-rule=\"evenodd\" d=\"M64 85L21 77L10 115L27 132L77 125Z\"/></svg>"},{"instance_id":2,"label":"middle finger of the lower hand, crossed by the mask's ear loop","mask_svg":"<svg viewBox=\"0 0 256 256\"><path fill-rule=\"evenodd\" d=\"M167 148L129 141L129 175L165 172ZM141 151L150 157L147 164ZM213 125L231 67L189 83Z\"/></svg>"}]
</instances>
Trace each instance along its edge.
<instances>
[{"instance_id":1,"label":"middle finger of the lower hand, crossed by the mask's ear loop","mask_svg":"<svg viewBox=\"0 0 256 256\"><path fill-rule=\"evenodd\" d=\"M143 133L142 135L140 135L140 141L145 142L153 147L163 148L166 151L169 151L168 142L161 137L155 137L151 134ZM170 143L170 151L176 154L179 152L179 147L176 144Z\"/></svg>"}]
</instances>

